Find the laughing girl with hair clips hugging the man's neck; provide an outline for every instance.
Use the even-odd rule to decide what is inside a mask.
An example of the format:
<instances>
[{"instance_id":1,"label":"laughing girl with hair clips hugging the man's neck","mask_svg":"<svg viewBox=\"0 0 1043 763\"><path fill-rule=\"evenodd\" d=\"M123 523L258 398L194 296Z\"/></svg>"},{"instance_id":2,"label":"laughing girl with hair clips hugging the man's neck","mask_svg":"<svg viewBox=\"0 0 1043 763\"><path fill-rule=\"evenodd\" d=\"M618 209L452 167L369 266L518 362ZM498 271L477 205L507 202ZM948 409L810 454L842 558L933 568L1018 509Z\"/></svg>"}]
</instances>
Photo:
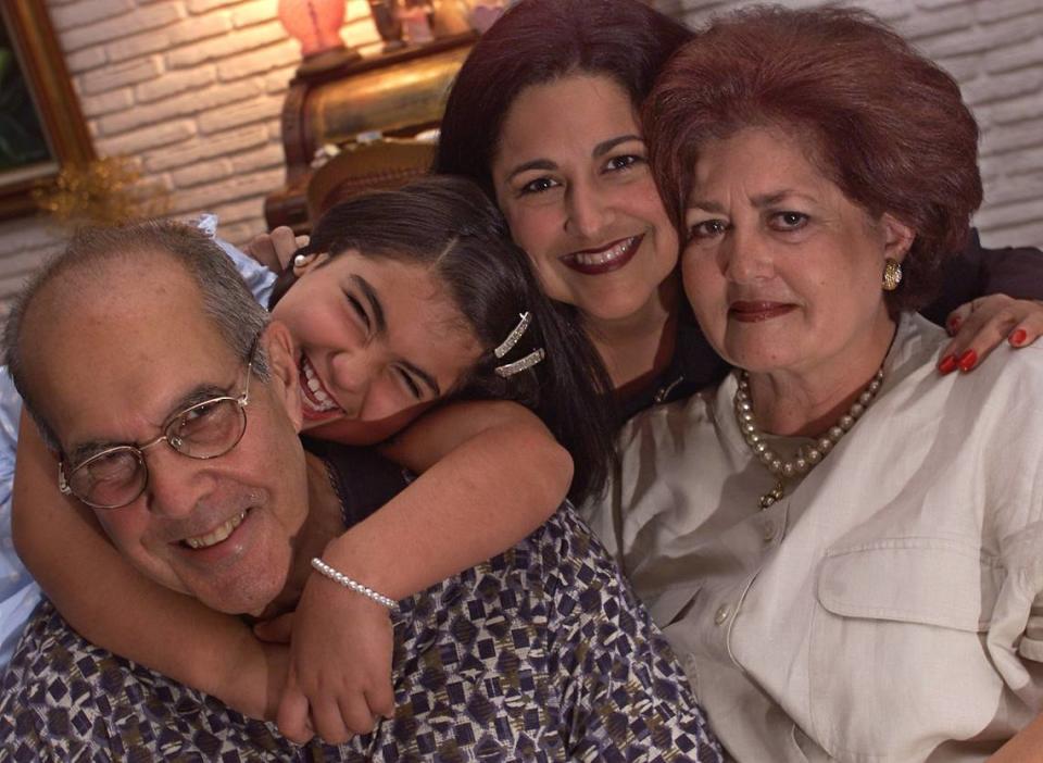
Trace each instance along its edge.
<instances>
[{"instance_id":1,"label":"laughing girl with hair clips hugging the man's neck","mask_svg":"<svg viewBox=\"0 0 1043 763\"><path fill-rule=\"evenodd\" d=\"M603 372L504 233L483 195L451 178L361 197L324 217L273 295L273 316L300 346L309 434L369 441L435 400L513 399L545 416L571 452L579 478L570 495L596 490L611 454L596 384ZM504 403L447 405L385 451L427 471L323 558L392 599L508 548L568 489L561 447L536 416ZM269 676L268 663L282 659L278 649L254 643L239 621L133 573L85 513L54 492L53 473L53 458L24 427L15 538L68 622L100 646L236 709L275 716L279 698L268 696L268 683L281 676ZM310 736L309 705L326 720L316 730L334 742L368 730L347 718L392 710L386 611L330 589L313 576L294 616L278 714L294 740ZM188 664L181 654L196 658Z\"/></svg>"}]
</instances>

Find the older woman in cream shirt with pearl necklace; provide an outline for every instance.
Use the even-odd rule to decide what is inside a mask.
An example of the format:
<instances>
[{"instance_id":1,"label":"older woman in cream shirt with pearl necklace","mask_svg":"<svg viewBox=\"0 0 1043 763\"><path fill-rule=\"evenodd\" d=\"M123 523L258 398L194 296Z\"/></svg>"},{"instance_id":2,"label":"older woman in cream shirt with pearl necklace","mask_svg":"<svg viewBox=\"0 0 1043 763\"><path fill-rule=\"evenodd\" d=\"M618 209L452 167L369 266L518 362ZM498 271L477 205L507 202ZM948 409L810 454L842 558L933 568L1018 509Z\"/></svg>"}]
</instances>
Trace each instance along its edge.
<instances>
[{"instance_id":1,"label":"older woman in cream shirt with pearl necklace","mask_svg":"<svg viewBox=\"0 0 1043 763\"><path fill-rule=\"evenodd\" d=\"M651 98L737 371L624 430L601 517L742 761L981 760L1043 708L1043 353L934 368L981 200L955 82L852 10L726 17Z\"/></svg>"}]
</instances>

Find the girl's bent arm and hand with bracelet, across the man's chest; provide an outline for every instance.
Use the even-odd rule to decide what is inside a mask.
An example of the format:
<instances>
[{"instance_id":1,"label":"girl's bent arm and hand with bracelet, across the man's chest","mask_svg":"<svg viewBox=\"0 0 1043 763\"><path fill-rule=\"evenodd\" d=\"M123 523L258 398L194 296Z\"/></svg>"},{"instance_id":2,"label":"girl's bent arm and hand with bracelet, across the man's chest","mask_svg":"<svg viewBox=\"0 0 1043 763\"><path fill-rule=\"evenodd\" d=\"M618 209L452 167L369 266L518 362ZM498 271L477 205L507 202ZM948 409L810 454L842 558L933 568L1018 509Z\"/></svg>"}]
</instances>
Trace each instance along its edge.
<instances>
[{"instance_id":1,"label":"girl's bent arm and hand with bracelet, across the man's chest","mask_svg":"<svg viewBox=\"0 0 1043 763\"><path fill-rule=\"evenodd\" d=\"M332 540L323 560L391 599L424 590L511 548L561 504L571 460L530 411L468 402L427 414L385 454L424 472ZM387 610L313 574L293 615L279 730L328 742L393 712ZM309 708L312 725L309 725Z\"/></svg>"}]
</instances>

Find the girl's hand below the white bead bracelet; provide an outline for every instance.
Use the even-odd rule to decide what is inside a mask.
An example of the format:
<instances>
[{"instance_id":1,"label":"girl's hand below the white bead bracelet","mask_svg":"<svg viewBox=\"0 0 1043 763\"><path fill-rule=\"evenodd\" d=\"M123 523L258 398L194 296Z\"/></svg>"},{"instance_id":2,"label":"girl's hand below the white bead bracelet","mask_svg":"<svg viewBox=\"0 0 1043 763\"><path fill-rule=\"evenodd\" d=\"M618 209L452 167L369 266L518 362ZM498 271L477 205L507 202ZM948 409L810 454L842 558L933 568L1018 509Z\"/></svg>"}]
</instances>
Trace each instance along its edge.
<instances>
[{"instance_id":1,"label":"girl's hand below the white bead bracelet","mask_svg":"<svg viewBox=\"0 0 1043 763\"><path fill-rule=\"evenodd\" d=\"M279 731L298 743L318 734L340 745L391 717L392 648L387 609L313 574L293 616Z\"/></svg>"}]
</instances>

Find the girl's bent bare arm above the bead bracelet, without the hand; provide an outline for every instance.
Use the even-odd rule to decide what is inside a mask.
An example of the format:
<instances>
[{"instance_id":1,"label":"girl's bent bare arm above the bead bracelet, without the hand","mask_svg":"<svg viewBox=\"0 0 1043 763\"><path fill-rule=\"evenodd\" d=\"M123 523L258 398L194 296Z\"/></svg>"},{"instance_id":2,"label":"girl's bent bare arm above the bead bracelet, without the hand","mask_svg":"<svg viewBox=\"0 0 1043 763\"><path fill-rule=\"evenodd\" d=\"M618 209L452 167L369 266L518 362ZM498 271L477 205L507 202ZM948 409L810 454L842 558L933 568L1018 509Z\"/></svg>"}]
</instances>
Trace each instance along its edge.
<instances>
[{"instance_id":1,"label":"girl's bent bare arm above the bead bracelet, without the hand","mask_svg":"<svg viewBox=\"0 0 1043 763\"><path fill-rule=\"evenodd\" d=\"M445 405L380 450L420 476L323 559L392 599L511 548L554 513L573 479L568 452L513 402Z\"/></svg>"}]
</instances>

